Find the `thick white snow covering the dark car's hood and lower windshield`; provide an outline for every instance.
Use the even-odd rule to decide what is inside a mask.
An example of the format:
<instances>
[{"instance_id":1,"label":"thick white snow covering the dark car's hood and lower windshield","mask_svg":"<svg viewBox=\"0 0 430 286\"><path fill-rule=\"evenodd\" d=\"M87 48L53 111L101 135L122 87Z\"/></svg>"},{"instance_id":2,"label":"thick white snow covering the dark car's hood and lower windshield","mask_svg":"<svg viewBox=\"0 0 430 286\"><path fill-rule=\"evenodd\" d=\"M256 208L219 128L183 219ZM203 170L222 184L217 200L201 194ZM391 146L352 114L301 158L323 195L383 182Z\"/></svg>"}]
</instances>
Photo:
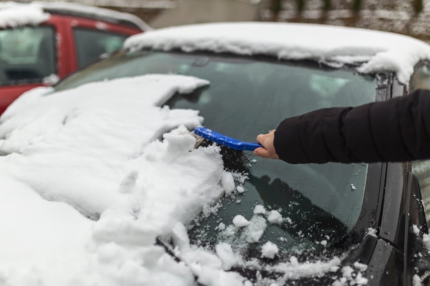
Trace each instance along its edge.
<instances>
[{"instance_id":1,"label":"thick white snow covering the dark car's hood and lower windshield","mask_svg":"<svg viewBox=\"0 0 430 286\"><path fill-rule=\"evenodd\" d=\"M207 84L143 75L57 93L36 88L17 99L0 125L0 281L152 286L194 285L197 278L202 285L251 285L228 270L258 269L256 261L228 243L213 252L194 246L185 227L234 192L220 148L194 149L189 130L203 122L198 111L160 107L174 93ZM275 222L276 213L270 216ZM171 238L181 261L156 237ZM273 259L278 248L266 243L261 252ZM291 257L268 270L285 273L280 283L336 279L340 263ZM360 271L348 268L339 283L357 284ZM263 285L273 282L264 279Z\"/></svg>"}]
</instances>

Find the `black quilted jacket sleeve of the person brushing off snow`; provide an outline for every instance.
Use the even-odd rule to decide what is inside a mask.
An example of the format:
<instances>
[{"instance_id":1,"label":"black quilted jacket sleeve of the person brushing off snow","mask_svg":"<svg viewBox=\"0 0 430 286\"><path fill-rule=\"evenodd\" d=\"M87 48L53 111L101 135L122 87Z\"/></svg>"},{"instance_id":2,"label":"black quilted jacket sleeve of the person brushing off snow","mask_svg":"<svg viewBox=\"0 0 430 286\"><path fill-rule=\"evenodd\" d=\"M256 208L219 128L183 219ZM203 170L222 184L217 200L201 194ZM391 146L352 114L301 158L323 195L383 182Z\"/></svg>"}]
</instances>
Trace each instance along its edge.
<instances>
[{"instance_id":1,"label":"black quilted jacket sleeve of the person brushing off snow","mask_svg":"<svg viewBox=\"0 0 430 286\"><path fill-rule=\"evenodd\" d=\"M273 144L288 163L430 158L430 91L285 119L275 131Z\"/></svg>"}]
</instances>

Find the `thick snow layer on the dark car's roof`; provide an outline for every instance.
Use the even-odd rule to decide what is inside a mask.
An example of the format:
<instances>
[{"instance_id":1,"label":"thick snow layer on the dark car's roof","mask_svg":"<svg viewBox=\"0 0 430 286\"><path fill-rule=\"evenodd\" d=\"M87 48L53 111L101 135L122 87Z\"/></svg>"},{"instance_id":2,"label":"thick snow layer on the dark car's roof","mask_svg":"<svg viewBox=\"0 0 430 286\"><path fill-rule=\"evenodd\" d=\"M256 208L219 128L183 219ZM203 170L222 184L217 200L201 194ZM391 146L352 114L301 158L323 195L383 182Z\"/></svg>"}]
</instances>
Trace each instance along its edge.
<instances>
[{"instance_id":1,"label":"thick snow layer on the dark car's roof","mask_svg":"<svg viewBox=\"0 0 430 286\"><path fill-rule=\"evenodd\" d=\"M205 50L286 60L356 62L361 63L359 71L362 73L393 71L405 84L417 62L430 60L430 46L409 36L299 23L209 23L168 27L131 36L124 48Z\"/></svg>"}]
</instances>

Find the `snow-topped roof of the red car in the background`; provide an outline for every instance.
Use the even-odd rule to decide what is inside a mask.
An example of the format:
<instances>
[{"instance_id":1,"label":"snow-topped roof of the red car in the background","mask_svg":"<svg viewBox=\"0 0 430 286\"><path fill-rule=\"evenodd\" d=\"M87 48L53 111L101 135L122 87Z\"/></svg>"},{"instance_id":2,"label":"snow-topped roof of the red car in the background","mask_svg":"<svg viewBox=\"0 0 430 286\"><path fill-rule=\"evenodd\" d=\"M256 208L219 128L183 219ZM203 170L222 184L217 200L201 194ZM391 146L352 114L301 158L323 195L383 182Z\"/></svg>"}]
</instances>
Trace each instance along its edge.
<instances>
[{"instance_id":1,"label":"snow-topped roof of the red car in the background","mask_svg":"<svg viewBox=\"0 0 430 286\"><path fill-rule=\"evenodd\" d=\"M148 24L133 14L78 3L43 1L34 1L32 3L0 2L0 14L0 27L37 25L46 21L49 14L66 14L121 23L122 25L137 27L143 31L151 29Z\"/></svg>"}]
</instances>

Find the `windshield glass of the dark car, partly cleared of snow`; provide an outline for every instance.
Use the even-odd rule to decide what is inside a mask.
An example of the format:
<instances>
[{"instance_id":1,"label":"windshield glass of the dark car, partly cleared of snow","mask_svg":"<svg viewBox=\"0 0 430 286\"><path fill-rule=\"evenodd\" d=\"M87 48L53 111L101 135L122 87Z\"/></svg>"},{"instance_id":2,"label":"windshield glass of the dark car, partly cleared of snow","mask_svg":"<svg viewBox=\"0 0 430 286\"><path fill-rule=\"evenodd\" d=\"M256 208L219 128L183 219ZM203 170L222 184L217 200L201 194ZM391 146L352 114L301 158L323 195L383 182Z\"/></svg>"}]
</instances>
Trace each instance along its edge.
<instances>
[{"instance_id":1,"label":"windshield glass of the dark car, partly cleared of snow","mask_svg":"<svg viewBox=\"0 0 430 286\"><path fill-rule=\"evenodd\" d=\"M207 128L242 141L255 141L257 134L276 128L286 117L317 108L357 106L376 97L376 78L352 68L178 51L119 53L75 73L56 90L146 73L209 80L210 86L191 95L174 95L166 105L200 110ZM223 159L234 174L236 191L188 226L190 239L198 245L225 241L253 257L261 256L256 251L267 241L284 254L319 250L342 241L357 224L366 164L291 165L233 150L223 150ZM247 219L247 228L234 227L238 215Z\"/></svg>"}]
</instances>

